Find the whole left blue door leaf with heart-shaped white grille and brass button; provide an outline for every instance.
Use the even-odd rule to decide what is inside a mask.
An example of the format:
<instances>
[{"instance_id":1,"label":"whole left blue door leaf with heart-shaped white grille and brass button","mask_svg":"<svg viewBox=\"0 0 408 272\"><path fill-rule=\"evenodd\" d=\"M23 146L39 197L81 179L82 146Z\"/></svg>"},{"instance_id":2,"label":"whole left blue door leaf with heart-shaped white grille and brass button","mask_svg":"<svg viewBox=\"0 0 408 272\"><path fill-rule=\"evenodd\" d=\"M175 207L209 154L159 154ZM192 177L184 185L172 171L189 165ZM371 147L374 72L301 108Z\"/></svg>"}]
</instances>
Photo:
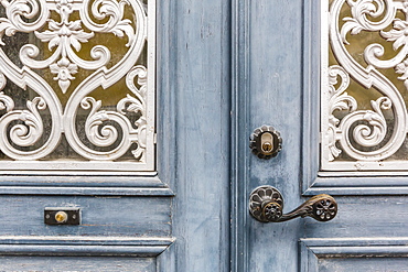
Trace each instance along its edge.
<instances>
[{"instance_id":1,"label":"whole left blue door leaf with heart-shaped white grille and brass button","mask_svg":"<svg viewBox=\"0 0 408 272\"><path fill-rule=\"evenodd\" d=\"M229 270L230 10L2 2L1 271Z\"/></svg>"}]
</instances>

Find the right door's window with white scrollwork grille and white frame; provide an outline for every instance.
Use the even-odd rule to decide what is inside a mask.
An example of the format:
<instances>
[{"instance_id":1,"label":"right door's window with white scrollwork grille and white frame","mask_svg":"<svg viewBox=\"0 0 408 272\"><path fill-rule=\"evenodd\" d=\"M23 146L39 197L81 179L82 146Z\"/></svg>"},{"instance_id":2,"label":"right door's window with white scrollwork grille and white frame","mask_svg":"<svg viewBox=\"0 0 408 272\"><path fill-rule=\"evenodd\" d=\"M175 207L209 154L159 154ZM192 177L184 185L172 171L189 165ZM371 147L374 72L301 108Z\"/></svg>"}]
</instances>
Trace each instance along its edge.
<instances>
[{"instance_id":1,"label":"right door's window with white scrollwork grille and white frame","mask_svg":"<svg viewBox=\"0 0 408 272\"><path fill-rule=\"evenodd\" d=\"M321 168L408 170L408 1L322 6Z\"/></svg>"}]
</instances>

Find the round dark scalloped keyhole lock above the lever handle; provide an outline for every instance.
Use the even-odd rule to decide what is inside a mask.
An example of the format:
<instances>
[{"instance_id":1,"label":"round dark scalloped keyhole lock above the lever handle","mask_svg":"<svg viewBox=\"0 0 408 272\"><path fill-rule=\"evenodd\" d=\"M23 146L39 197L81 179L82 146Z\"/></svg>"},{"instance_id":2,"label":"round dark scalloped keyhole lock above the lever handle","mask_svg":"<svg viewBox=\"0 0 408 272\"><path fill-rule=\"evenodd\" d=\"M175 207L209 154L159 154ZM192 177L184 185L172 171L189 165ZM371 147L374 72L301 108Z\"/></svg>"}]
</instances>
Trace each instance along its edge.
<instances>
[{"instance_id":1,"label":"round dark scalloped keyhole lock above the lever handle","mask_svg":"<svg viewBox=\"0 0 408 272\"><path fill-rule=\"evenodd\" d=\"M255 129L249 140L249 148L259 159L277 156L282 149L282 138L279 131L270 126Z\"/></svg>"}]
</instances>

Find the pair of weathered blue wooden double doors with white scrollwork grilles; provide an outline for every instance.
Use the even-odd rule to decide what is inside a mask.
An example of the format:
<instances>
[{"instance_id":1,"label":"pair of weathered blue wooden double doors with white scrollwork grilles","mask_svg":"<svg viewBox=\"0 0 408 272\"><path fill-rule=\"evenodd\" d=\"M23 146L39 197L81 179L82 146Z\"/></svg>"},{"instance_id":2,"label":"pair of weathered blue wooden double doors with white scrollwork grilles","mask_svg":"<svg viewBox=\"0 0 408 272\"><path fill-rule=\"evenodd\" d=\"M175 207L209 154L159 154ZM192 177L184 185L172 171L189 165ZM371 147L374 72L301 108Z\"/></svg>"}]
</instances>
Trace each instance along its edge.
<instances>
[{"instance_id":1,"label":"pair of weathered blue wooden double doors with white scrollwork grilles","mask_svg":"<svg viewBox=\"0 0 408 272\"><path fill-rule=\"evenodd\" d=\"M34 2L4 1L1 8L2 18L7 18L0 21L4 43L0 57L1 81L10 81L10 85L1 85L0 99L0 123L2 133L6 131L0 146L0 270L407 270L407 167L405 137L401 137L406 134L406 110L404 98L399 99L394 91L405 88L405 57L391 55L394 61L384 64L380 61L389 59L390 55L380 58L380 48L374 46L377 51L364 61L361 56L365 47L375 43L369 39L367 45L357 46L351 57L342 56L342 46L348 47L335 34L335 28L345 28L345 40L355 43L359 40L352 39L348 34L352 30L353 35L378 32L385 50L396 50L395 55L404 55L406 6L402 1L95 1L98 3L93 15L85 15L84 10L79 12L78 3L88 1L39 1L46 7L44 12L28 15L26 12L39 8ZM98 8L104 6L99 14ZM125 13L121 6L127 7ZM85 17L85 23L68 25L67 18L60 20L61 14L66 15L64 12L74 12L72 9L76 10L73 18ZM50 10L54 12L50 20L43 18ZM363 20L357 20L358 14L363 14ZM19 17L23 19L15 19ZM120 19L112 19L116 26L101 28L90 22L109 23L109 17ZM356 18L353 20L353 17ZM364 24L367 17L376 18L374 26ZM146 24L130 23L135 18ZM343 18L350 18L344 21L350 23L341 22ZM52 20L60 21L50 23ZM39 22L41 28L35 29L33 25ZM341 23L335 26L333 22ZM147 32L138 36L139 31ZM26 32L33 34L24 36ZM72 32L73 41L67 39ZM100 32L100 40L84 45L96 39L90 32ZM64 50L56 50L63 44L56 36L65 41ZM137 42L138 39L147 43ZM127 86L129 94L112 90L112 85L106 83L112 75L109 70L119 66L97 62L107 57L105 47L96 47L94 55L89 53L100 41L107 43L106 47L122 46L119 61L129 65L116 68L115 73L124 77L117 89ZM393 48L395 41L399 41L399 45ZM25 44L31 45L24 47ZM333 47L329 50L330 46ZM36 54L35 47L49 52ZM80 48L87 50L87 55L77 54ZM126 55L129 48L131 54ZM49 65L40 62L54 54L60 55ZM358 54L359 66L347 62ZM10 64L8 59L14 59L12 56L22 56L22 59ZM94 66L88 65L90 61ZM147 83L143 81L146 69L140 65L153 70L148 73ZM39 69L47 70L41 74ZM76 80L82 69L90 72ZM329 72L335 70L339 84L328 79ZM87 79L94 72L94 79ZM129 84L132 80L126 80L127 75L142 79ZM351 105L340 107L344 110L341 115L329 111L328 89L342 86L341 80L346 81L347 75L355 80L346 90L345 100ZM388 81L385 77L391 79ZM29 78L25 85L24 78ZM53 81L50 86L54 86L56 95L50 95L46 80ZM153 90L147 105L154 107L147 110L146 119L141 120L143 104L131 101L144 94L140 91L143 86ZM33 94L39 94L41 88L46 89L40 91L43 99L35 99L37 95ZM92 88L99 93L90 95ZM106 89L108 95L104 93ZM362 89L372 89L368 98L356 98ZM71 98L82 91L87 97ZM122 97L110 98L116 93ZM348 97L363 104L362 108L353 107L353 99ZM13 105L11 99L19 101ZM104 112L98 111L97 100L110 99L115 107L101 102L106 108L101 109ZM86 137L94 143L75 144L88 141L73 132L80 131L80 123L86 123L85 113L78 127L68 126L73 116L78 115L71 115L73 111L68 110L75 104L82 107L75 112L89 113L89 109L95 109L93 112L99 113L94 116L95 120L101 123L109 117L109 121L130 123L131 137L126 138L131 139L130 143L114 141L115 152L109 153L107 139L120 127L114 126L89 132ZM125 115L125 109L133 112ZM373 117L374 122L361 120L362 124L368 123L368 129L355 145L363 145L359 153L363 155L358 156L357 148L350 149L340 135L347 113L358 116L361 110L369 113L366 116ZM41 120L51 120L49 127L54 126L53 120L61 126L50 130L56 140L47 140L54 139L49 134L45 140L31 144L33 138L28 131L41 127L41 120L35 119L39 111L46 113ZM393 112L398 113L398 118L393 117ZM132 121L124 121L130 113L136 113L129 119ZM4 121L17 116L10 126L20 126L20 130L7 129ZM331 124L328 120L335 120L330 119L332 116L339 123L332 123L333 130L328 130ZM397 124L393 124L394 119L399 120ZM137 126L131 124L138 120ZM28 129L25 132L22 124ZM147 124L150 130L141 130ZM282 151L270 160L255 156L249 149L249 135L262 124L272 126L283 139ZM382 131L388 133L373 140L371 130L378 135ZM17 133L10 134L12 131ZM328 131L335 131L339 138L330 138ZM144 133L150 137L141 142L139 137ZM348 138L351 134L345 133ZM4 144L13 139L18 140ZM397 140L387 144L390 139ZM117 150L121 149L117 148L122 143L129 144L129 151L119 156ZM351 141L352 145L355 143ZM19 144L22 148L18 148ZM55 156L52 145L62 145ZM73 145L73 150L68 150L68 145ZM95 145L96 151L90 151ZM371 153L388 146L396 150ZM50 151L51 156L41 154L45 151ZM394 153L396 156L391 156ZM110 155L115 159L109 160ZM248 197L260 185L272 185L282 193L284 211L312 195L326 193L337 200L339 214L329 222L311 218L259 222L248 213ZM44 211L72 209L80 210L79 225L66 225L63 217L62 224L46 224ZM56 215L53 216L56 220Z\"/></svg>"}]
</instances>

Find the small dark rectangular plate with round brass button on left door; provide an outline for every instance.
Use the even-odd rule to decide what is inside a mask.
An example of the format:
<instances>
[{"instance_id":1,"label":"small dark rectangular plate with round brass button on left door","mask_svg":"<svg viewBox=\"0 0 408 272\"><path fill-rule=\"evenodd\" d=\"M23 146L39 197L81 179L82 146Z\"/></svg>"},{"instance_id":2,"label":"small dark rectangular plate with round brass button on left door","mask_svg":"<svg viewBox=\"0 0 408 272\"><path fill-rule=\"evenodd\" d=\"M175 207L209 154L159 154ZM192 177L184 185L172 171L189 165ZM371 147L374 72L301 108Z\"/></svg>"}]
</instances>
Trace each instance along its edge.
<instances>
[{"instance_id":1,"label":"small dark rectangular plate with round brass button on left door","mask_svg":"<svg viewBox=\"0 0 408 272\"><path fill-rule=\"evenodd\" d=\"M79 225L79 208L45 208L44 222L46 225Z\"/></svg>"}]
</instances>

